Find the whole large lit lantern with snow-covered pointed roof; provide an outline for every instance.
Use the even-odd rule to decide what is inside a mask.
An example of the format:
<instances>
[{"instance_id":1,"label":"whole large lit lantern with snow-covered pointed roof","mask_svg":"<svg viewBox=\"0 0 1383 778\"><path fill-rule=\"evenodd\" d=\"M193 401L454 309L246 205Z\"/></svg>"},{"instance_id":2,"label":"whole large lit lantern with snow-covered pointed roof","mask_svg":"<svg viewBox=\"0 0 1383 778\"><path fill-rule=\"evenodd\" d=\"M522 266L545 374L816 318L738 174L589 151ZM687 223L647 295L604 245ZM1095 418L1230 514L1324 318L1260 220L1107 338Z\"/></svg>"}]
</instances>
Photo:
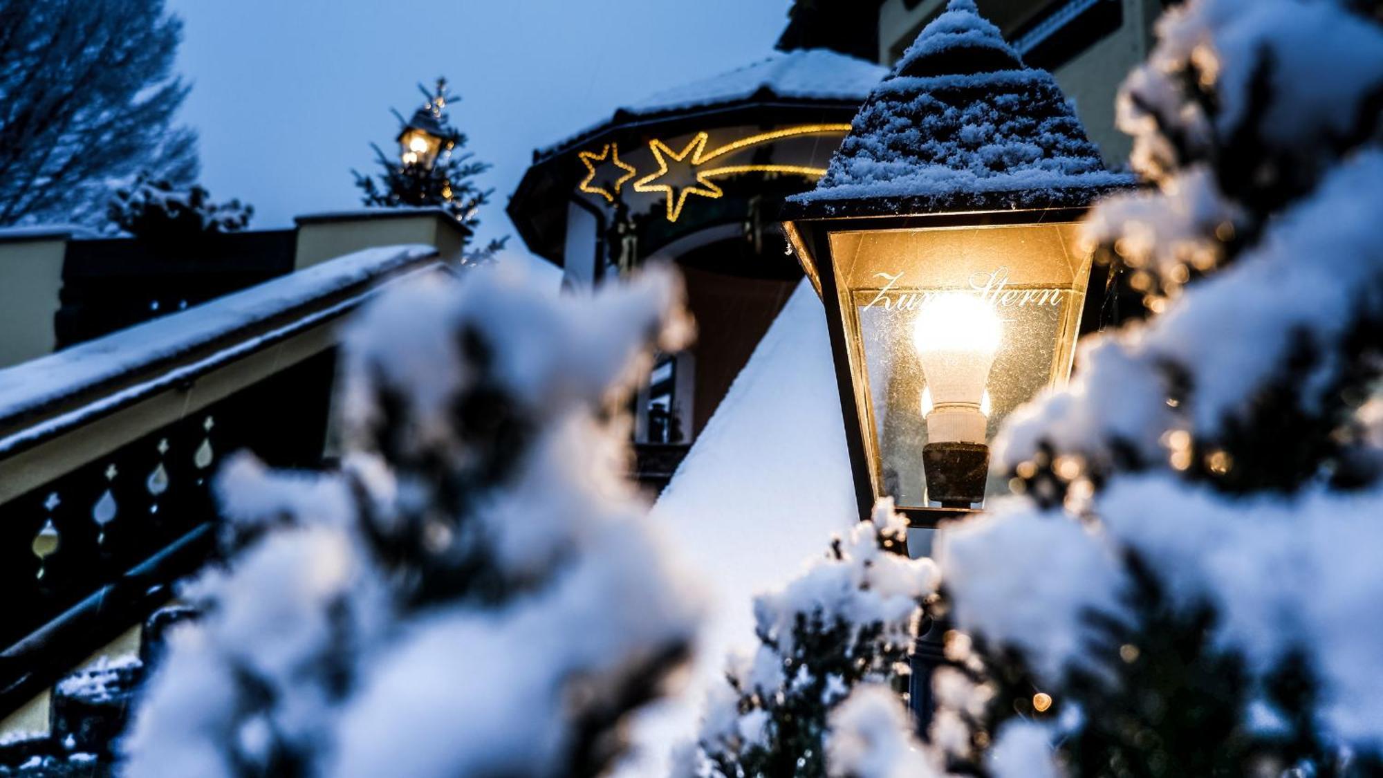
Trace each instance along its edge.
<instances>
[{"instance_id":1,"label":"whole large lit lantern with snow-covered pointed roof","mask_svg":"<svg viewBox=\"0 0 1383 778\"><path fill-rule=\"evenodd\" d=\"M826 306L860 511L914 525L1003 489L989 444L1070 372L1104 169L1055 80L950 0L870 94L788 239Z\"/></svg>"}]
</instances>

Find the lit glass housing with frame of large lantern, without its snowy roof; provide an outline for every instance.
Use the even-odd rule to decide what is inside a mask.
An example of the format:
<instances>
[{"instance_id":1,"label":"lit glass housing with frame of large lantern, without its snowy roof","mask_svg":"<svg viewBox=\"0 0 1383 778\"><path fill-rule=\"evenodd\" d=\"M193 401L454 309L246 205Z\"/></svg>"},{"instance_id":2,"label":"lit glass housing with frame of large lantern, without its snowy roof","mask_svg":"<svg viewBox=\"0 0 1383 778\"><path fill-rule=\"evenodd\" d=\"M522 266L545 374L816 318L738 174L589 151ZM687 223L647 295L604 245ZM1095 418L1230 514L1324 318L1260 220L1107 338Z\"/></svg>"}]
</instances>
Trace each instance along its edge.
<instances>
[{"instance_id":1,"label":"lit glass housing with frame of large lantern, without its snowy roof","mask_svg":"<svg viewBox=\"0 0 1383 778\"><path fill-rule=\"evenodd\" d=\"M799 217L863 504L975 508L989 443L1070 371L1091 257L1079 209Z\"/></svg>"}]
</instances>

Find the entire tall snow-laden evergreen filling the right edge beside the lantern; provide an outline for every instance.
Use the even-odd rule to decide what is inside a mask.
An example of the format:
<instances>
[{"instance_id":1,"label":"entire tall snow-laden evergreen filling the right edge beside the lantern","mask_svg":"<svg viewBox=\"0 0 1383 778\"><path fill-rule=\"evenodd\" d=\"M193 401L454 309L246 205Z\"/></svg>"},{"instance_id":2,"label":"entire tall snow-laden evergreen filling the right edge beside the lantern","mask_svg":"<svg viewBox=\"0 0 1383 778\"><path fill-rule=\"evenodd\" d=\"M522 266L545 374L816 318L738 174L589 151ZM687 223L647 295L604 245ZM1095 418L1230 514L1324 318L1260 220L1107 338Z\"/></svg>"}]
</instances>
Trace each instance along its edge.
<instances>
[{"instance_id":1,"label":"entire tall snow-laden evergreen filling the right edge beside the lantern","mask_svg":"<svg viewBox=\"0 0 1383 778\"><path fill-rule=\"evenodd\" d=\"M931 764L1383 771L1371 6L1191 0L1159 22L1119 97L1149 187L1084 226L1142 311L1004 426L994 467L1018 494L939 532L935 615L956 631ZM916 757L849 736L851 764L870 742Z\"/></svg>"}]
</instances>

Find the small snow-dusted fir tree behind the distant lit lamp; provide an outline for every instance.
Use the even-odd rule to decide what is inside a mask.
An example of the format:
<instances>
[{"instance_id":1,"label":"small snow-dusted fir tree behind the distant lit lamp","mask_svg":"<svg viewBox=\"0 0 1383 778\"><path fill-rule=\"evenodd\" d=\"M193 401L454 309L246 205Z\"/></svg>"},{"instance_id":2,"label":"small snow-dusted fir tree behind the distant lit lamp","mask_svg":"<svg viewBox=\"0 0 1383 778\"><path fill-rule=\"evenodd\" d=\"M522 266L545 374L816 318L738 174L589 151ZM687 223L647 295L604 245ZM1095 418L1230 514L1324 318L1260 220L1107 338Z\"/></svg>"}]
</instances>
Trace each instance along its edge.
<instances>
[{"instance_id":1,"label":"small snow-dusted fir tree behind the distant lit lamp","mask_svg":"<svg viewBox=\"0 0 1383 778\"><path fill-rule=\"evenodd\" d=\"M427 150L409 150L400 156L384 154L378 144L371 144L375 150L375 162L380 168L379 176L366 176L351 170L355 176L355 186L364 192L362 202L375 208L420 208L437 206L451 213L470 233L480 226L477 212L480 206L490 202L494 190L483 190L476 183L476 177L490 169L488 162L480 162L476 155L466 148L466 134L452 126L447 114L447 105L461 98L454 97L447 79L437 79L437 86L429 91L422 84L418 90L423 93L426 101L422 108L414 112L411 119L404 119L398 111L394 118L400 127L422 127L427 134L438 138L441 147L436 156L429 156ZM470 260L483 260L503 248L508 238L490 241L483 249L466 252Z\"/></svg>"}]
</instances>

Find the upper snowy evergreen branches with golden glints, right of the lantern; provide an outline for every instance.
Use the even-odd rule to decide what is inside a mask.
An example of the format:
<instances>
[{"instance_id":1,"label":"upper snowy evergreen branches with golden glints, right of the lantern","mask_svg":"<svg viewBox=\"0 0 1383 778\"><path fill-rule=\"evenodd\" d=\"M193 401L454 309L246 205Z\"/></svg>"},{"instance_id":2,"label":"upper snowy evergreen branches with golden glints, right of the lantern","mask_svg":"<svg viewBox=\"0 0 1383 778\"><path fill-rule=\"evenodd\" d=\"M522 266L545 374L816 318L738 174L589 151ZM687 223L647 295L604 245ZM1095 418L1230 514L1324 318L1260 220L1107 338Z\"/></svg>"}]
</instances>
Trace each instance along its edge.
<instances>
[{"instance_id":1,"label":"upper snowy evergreen branches with golden glints, right of the lantern","mask_svg":"<svg viewBox=\"0 0 1383 778\"><path fill-rule=\"evenodd\" d=\"M1158 29L1119 97L1156 188L1109 198L1086 234L1163 316L1090 339L1070 390L1008 426L1003 464L1022 475L1047 443L1095 476L1170 464L1228 490L1292 490L1322 465L1350 478L1355 436L1340 428L1376 374L1383 323L1383 29L1303 0L1202 0Z\"/></svg>"}]
</instances>

